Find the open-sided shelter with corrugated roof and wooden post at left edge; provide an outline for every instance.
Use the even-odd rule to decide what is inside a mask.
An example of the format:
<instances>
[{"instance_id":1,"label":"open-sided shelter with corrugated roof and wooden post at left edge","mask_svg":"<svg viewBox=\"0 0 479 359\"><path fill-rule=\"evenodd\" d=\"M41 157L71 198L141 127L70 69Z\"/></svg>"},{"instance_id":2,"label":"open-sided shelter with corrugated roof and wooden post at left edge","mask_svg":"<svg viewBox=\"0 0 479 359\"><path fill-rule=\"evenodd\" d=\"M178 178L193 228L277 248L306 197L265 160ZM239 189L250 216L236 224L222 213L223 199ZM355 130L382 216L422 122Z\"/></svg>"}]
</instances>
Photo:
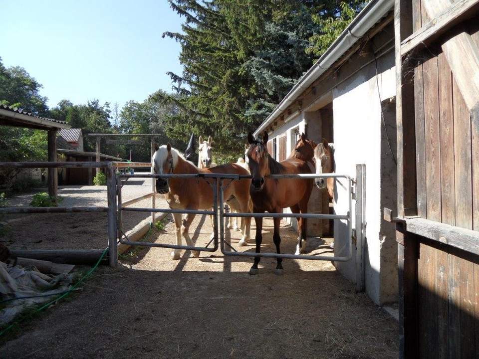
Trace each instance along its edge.
<instances>
[{"instance_id":1,"label":"open-sided shelter with corrugated roof and wooden post at left edge","mask_svg":"<svg viewBox=\"0 0 479 359\"><path fill-rule=\"evenodd\" d=\"M56 134L58 130L69 129L63 121L38 117L0 104L0 125L44 130L48 132L48 161L56 162ZM48 169L48 194L56 196L58 193L58 172L56 168Z\"/></svg>"}]
</instances>

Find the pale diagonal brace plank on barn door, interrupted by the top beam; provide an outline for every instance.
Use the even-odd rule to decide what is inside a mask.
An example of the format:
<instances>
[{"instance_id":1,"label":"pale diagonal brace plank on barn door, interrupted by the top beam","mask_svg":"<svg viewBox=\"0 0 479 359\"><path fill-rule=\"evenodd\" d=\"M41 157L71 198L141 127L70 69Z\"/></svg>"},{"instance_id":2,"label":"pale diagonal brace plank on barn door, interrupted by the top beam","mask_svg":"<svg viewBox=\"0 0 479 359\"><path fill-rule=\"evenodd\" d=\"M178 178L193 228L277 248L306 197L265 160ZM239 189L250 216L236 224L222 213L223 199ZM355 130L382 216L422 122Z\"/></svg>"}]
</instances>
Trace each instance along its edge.
<instances>
[{"instance_id":1,"label":"pale diagonal brace plank on barn door, interrupted by the top beam","mask_svg":"<svg viewBox=\"0 0 479 359\"><path fill-rule=\"evenodd\" d=\"M431 18L446 12L452 5L451 0L424 0L424 7ZM459 29L441 48L473 116L479 107L479 48L465 28Z\"/></svg>"}]
</instances>

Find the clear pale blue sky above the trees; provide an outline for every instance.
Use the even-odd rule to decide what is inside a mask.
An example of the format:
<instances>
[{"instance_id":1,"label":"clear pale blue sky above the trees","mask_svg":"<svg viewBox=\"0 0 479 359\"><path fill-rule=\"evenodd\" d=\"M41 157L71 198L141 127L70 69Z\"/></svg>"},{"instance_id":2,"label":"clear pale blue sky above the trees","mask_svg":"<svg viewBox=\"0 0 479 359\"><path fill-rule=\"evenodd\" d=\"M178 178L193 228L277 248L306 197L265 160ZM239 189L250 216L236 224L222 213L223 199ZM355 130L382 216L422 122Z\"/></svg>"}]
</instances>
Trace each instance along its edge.
<instances>
[{"instance_id":1,"label":"clear pale blue sky above the trees","mask_svg":"<svg viewBox=\"0 0 479 359\"><path fill-rule=\"evenodd\" d=\"M0 57L43 85L48 105L142 101L171 91L182 18L166 0L0 0Z\"/></svg>"}]
</instances>

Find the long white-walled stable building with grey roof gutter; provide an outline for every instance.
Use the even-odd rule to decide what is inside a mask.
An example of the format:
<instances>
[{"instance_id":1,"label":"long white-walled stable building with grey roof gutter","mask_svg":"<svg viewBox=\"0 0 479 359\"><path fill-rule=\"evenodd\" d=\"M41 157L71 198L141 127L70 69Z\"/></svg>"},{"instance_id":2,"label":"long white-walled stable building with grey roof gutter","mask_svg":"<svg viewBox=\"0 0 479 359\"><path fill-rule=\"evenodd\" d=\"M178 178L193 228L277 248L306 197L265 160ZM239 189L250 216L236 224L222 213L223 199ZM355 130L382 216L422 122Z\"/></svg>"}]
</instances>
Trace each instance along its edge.
<instances>
[{"instance_id":1,"label":"long white-walled stable building with grey roof gutter","mask_svg":"<svg viewBox=\"0 0 479 359\"><path fill-rule=\"evenodd\" d=\"M353 248L353 258L335 266L352 282L362 268L364 289L378 305L398 298L394 226L381 214L396 205L397 190L393 9L393 0L370 1L254 132L268 132L269 152L278 161L304 132L316 143L325 138L333 144L336 173L355 178L356 166L365 165L365 220L353 220L356 236L365 236L365 258ZM308 211L347 213L347 182L336 180L331 201L326 192L314 187ZM335 255L347 254L345 221L309 220L308 236L334 236Z\"/></svg>"}]
</instances>

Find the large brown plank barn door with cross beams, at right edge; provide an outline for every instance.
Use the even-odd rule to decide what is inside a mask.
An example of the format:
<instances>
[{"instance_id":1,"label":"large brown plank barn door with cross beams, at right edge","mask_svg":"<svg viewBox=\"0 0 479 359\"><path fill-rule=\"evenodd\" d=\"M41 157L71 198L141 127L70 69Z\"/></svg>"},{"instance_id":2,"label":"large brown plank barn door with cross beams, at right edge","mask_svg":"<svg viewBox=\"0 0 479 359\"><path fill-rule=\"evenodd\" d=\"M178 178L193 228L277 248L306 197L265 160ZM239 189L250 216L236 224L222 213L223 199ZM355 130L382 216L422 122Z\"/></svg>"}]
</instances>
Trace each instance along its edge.
<instances>
[{"instance_id":1,"label":"large brown plank barn door with cross beams, at right edge","mask_svg":"<svg viewBox=\"0 0 479 359\"><path fill-rule=\"evenodd\" d=\"M479 0L396 0L395 33L400 357L479 358Z\"/></svg>"}]
</instances>

